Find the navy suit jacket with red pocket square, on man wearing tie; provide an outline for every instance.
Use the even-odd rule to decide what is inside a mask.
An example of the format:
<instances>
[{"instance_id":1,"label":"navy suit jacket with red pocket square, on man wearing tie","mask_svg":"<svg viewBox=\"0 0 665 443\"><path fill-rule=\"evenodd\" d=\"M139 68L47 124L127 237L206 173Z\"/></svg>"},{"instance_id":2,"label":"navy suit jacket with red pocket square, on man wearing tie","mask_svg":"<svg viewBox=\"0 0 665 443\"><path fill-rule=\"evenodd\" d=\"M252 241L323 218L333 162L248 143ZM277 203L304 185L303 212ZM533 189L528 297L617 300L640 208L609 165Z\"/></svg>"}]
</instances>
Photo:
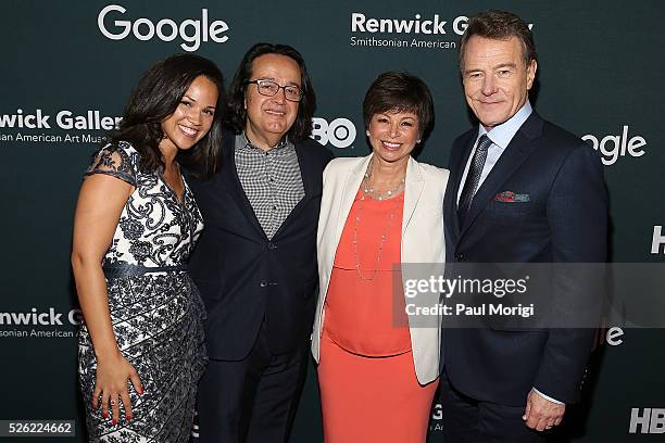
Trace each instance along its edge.
<instances>
[{"instance_id":1,"label":"navy suit jacket with red pocket square, on man wearing tie","mask_svg":"<svg viewBox=\"0 0 665 443\"><path fill-rule=\"evenodd\" d=\"M607 197L600 156L536 112L478 189L464 226L459 225L457 192L477 134L474 128L459 137L451 152L444 200L448 262L604 263ZM529 201L495 200L503 191L528 194ZM444 370L455 389L476 400L519 406L535 387L574 403L592 337L592 329L443 329Z\"/></svg>"}]
</instances>

